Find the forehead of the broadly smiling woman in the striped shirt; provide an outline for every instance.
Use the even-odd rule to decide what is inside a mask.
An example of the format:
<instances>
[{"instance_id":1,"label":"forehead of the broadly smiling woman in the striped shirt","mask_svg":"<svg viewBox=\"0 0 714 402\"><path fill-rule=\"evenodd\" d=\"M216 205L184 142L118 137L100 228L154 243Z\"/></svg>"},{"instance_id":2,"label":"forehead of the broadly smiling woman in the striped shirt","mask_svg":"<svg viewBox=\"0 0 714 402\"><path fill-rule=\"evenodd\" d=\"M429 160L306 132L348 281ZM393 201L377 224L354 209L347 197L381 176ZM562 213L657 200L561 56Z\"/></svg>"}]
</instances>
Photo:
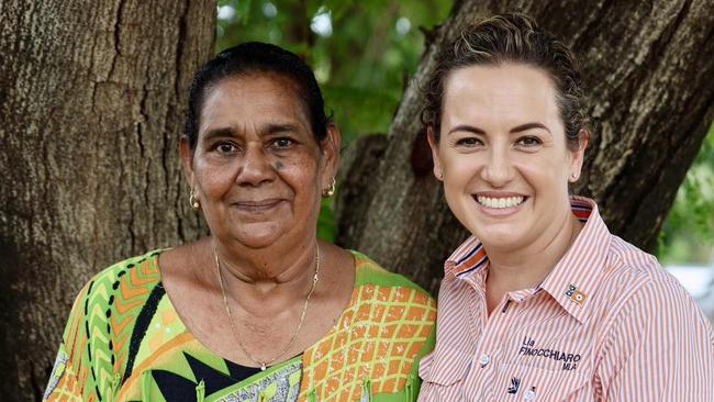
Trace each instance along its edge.
<instances>
[{"instance_id":1,"label":"forehead of the broadly smiling woman in the striped shirt","mask_svg":"<svg viewBox=\"0 0 714 402\"><path fill-rule=\"evenodd\" d=\"M557 124L559 110L553 80L540 68L500 64L470 66L453 71L444 91L444 122L477 119L520 124L539 121ZM555 121L553 121L555 120Z\"/></svg>"}]
</instances>

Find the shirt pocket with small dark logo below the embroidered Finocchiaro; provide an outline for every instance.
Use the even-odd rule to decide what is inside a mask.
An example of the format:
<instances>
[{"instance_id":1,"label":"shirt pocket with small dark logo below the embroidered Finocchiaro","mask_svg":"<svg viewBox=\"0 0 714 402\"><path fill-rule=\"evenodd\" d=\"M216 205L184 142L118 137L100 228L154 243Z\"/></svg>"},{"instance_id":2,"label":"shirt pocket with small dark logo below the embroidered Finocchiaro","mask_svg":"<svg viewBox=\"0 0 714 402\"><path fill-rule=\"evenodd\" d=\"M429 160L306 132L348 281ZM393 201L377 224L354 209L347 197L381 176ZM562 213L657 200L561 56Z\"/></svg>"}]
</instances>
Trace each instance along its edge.
<instances>
[{"instance_id":1,"label":"shirt pocket with small dark logo below the embroidered Finocchiaro","mask_svg":"<svg viewBox=\"0 0 714 402\"><path fill-rule=\"evenodd\" d=\"M525 365L503 365L492 392L489 400L493 401L594 401L590 377L584 372Z\"/></svg>"}]
</instances>

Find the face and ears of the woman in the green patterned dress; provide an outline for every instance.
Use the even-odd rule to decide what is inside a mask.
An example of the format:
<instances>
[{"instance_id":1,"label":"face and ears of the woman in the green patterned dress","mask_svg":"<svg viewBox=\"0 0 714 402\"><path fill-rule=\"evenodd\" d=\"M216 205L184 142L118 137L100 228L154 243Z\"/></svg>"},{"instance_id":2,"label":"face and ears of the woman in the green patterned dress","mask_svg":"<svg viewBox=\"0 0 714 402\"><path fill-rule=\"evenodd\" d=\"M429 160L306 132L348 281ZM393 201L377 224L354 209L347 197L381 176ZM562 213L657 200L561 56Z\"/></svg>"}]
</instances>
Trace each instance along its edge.
<instances>
[{"instance_id":1,"label":"face and ears of the woman in the green patterned dress","mask_svg":"<svg viewBox=\"0 0 714 402\"><path fill-rule=\"evenodd\" d=\"M314 236L322 189L335 174L339 134L324 149L297 98L276 75L250 74L208 90L197 146L181 156L211 232L261 248Z\"/></svg>"}]
</instances>

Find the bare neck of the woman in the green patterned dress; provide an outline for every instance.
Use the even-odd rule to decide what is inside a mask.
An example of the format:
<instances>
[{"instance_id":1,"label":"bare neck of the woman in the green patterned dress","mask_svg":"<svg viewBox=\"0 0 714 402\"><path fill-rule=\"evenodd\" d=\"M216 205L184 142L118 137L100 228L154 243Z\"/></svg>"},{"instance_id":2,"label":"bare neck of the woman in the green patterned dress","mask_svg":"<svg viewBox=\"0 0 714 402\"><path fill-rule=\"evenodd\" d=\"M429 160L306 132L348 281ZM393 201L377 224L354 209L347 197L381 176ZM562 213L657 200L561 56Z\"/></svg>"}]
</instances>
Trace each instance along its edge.
<instances>
[{"instance_id":1,"label":"bare neck of the woman in the green patterned dress","mask_svg":"<svg viewBox=\"0 0 714 402\"><path fill-rule=\"evenodd\" d=\"M290 249L236 250L215 238L210 246L215 247L228 299L249 314L275 314L304 300L310 292L316 268L315 238ZM215 265L214 258L212 263ZM211 271L215 277L215 266ZM214 280L217 283L219 279Z\"/></svg>"}]
</instances>

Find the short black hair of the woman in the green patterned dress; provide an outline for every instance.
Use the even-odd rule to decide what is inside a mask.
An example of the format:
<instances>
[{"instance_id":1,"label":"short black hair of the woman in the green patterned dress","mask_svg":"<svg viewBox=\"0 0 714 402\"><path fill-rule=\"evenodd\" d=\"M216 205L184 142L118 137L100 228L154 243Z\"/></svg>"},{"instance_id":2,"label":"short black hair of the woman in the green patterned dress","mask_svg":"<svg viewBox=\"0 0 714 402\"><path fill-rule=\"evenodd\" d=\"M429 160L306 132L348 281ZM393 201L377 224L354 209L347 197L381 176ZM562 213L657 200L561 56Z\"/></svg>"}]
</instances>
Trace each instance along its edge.
<instances>
[{"instance_id":1,"label":"short black hair of the woman in the green patterned dress","mask_svg":"<svg viewBox=\"0 0 714 402\"><path fill-rule=\"evenodd\" d=\"M199 136L201 110L209 90L221 80L249 74L276 74L295 86L312 134L322 146L332 119L325 114L325 102L312 69L294 53L261 42L246 42L219 53L193 76L189 90L189 104L185 135L191 149Z\"/></svg>"}]
</instances>

